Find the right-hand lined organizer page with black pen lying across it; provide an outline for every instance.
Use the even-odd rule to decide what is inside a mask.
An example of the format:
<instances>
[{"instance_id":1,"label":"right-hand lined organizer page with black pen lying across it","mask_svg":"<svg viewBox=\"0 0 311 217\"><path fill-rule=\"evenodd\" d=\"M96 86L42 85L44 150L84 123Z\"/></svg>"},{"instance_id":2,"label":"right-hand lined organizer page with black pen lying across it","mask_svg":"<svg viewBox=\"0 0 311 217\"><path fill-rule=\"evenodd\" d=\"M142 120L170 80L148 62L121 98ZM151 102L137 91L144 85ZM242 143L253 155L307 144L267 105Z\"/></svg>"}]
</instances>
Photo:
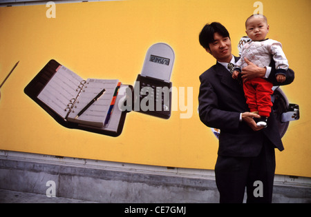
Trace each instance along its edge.
<instances>
[{"instance_id":1,"label":"right-hand lined organizer page with black pen lying across it","mask_svg":"<svg viewBox=\"0 0 311 217\"><path fill-rule=\"evenodd\" d=\"M119 80L87 79L84 89L78 97L78 103L75 104L77 107L69 114L68 121L102 127L118 81ZM79 111L92 101L102 89L106 89L106 91L100 99L95 101L81 116L75 119Z\"/></svg>"}]
</instances>

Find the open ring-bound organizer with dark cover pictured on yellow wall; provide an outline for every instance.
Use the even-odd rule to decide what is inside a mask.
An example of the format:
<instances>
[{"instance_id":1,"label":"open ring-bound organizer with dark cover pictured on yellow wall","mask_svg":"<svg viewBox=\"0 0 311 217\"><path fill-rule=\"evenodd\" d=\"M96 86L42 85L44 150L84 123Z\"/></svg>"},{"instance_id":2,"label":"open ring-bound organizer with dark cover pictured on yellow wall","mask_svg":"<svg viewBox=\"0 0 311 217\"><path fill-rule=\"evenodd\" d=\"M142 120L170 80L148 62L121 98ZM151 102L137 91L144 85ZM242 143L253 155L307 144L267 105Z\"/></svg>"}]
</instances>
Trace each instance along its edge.
<instances>
[{"instance_id":1,"label":"open ring-bound organizer with dark cover pictured on yellow wall","mask_svg":"<svg viewBox=\"0 0 311 217\"><path fill-rule=\"evenodd\" d=\"M64 127L119 136L124 127L126 111L119 110L117 104L125 98L125 90L128 87L133 91L131 85L120 85L117 80L83 80L52 59L28 83L24 92ZM86 114L75 118L77 112L82 110L82 107L102 88L106 91L100 99L91 105ZM112 109L114 104L115 107ZM95 118L92 119L92 116Z\"/></svg>"}]
</instances>

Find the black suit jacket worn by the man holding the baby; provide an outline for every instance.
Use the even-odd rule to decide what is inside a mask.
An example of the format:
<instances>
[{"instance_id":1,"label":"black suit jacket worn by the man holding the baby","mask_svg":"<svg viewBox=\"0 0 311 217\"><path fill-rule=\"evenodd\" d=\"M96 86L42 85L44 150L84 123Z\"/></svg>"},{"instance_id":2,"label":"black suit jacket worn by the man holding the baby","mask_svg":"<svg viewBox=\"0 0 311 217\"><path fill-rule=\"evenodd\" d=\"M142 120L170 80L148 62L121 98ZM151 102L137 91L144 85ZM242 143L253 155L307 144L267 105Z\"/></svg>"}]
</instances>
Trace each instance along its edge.
<instances>
[{"instance_id":1,"label":"black suit jacket worn by the man holding the baby","mask_svg":"<svg viewBox=\"0 0 311 217\"><path fill-rule=\"evenodd\" d=\"M238 61L238 57L235 57ZM272 63L271 65L273 65ZM268 80L274 85L285 85L294 81L294 72L286 72L286 81L277 83L275 69ZM249 111L243 92L243 86L232 79L229 71L220 63L200 75L199 115L202 123L208 127L220 129L218 154L222 156L257 156L268 138L280 151L284 149L273 112L268 118L267 128L254 132L240 114Z\"/></svg>"}]
</instances>

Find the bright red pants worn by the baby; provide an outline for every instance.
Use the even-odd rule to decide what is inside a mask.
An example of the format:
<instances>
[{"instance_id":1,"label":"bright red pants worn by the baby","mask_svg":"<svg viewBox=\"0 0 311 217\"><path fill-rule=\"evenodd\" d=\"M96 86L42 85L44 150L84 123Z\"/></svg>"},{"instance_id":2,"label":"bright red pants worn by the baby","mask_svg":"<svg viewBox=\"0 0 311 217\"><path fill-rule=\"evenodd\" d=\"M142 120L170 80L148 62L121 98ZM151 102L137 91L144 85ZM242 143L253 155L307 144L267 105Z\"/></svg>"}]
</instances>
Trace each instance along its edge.
<instances>
[{"instance_id":1,"label":"bright red pants worn by the baby","mask_svg":"<svg viewBox=\"0 0 311 217\"><path fill-rule=\"evenodd\" d=\"M270 116L273 94L272 83L262 78L255 78L243 83L246 103L250 112L258 112L260 116Z\"/></svg>"}]
</instances>

